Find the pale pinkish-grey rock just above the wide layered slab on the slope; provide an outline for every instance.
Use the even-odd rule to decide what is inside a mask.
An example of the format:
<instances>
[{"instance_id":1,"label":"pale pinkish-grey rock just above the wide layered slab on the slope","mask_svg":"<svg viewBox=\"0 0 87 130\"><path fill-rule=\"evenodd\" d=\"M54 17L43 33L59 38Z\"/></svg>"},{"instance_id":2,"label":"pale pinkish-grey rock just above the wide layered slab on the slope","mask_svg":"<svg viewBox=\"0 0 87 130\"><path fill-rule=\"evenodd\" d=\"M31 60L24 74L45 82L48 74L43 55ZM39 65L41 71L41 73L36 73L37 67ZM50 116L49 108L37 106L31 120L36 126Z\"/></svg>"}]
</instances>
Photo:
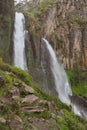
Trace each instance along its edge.
<instances>
[{"instance_id":1,"label":"pale pinkish-grey rock just above the wide layered slab on the slope","mask_svg":"<svg viewBox=\"0 0 87 130\"><path fill-rule=\"evenodd\" d=\"M35 95L28 95L25 98L22 99L22 103L34 103L38 100L39 98L36 97Z\"/></svg>"}]
</instances>

